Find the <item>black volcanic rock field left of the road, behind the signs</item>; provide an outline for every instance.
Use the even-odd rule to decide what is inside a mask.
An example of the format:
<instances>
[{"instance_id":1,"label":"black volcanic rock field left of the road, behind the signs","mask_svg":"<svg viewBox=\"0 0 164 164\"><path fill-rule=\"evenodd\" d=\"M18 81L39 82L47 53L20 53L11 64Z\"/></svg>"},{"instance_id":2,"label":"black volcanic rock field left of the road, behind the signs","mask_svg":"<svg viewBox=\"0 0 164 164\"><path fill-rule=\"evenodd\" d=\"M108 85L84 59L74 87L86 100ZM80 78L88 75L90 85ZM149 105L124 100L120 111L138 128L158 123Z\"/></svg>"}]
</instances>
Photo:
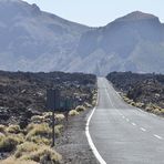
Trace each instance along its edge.
<instances>
[{"instance_id":1,"label":"black volcanic rock field left of the road, behind the signs","mask_svg":"<svg viewBox=\"0 0 164 164\"><path fill-rule=\"evenodd\" d=\"M31 116L47 112L47 89L58 89L74 103L92 101L95 75L83 73L30 73L0 71L0 123L25 126Z\"/></svg>"}]
</instances>

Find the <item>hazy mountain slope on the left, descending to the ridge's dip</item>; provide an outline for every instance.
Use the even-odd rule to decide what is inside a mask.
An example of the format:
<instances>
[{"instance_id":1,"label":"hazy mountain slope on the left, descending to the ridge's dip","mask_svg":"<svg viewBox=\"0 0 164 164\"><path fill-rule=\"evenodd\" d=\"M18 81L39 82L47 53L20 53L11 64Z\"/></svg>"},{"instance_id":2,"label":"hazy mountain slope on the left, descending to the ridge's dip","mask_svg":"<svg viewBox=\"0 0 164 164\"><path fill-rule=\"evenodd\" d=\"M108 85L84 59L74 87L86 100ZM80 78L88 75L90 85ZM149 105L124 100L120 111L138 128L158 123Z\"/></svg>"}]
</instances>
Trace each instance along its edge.
<instances>
[{"instance_id":1,"label":"hazy mountain slope on the left, descending to the ridge's dip","mask_svg":"<svg viewBox=\"0 0 164 164\"><path fill-rule=\"evenodd\" d=\"M89 27L43 12L20 0L0 0L0 69L61 70Z\"/></svg>"}]
</instances>

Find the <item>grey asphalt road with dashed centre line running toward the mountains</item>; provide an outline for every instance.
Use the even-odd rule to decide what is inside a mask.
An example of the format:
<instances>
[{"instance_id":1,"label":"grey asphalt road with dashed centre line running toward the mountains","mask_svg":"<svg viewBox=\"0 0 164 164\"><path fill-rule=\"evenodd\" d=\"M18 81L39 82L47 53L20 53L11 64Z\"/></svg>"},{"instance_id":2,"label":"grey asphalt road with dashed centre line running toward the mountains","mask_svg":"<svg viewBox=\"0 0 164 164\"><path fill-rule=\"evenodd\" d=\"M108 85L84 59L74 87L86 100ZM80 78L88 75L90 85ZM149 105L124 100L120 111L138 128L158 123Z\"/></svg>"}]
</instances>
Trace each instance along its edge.
<instances>
[{"instance_id":1,"label":"grey asphalt road with dashed centre line running toward the mountains","mask_svg":"<svg viewBox=\"0 0 164 164\"><path fill-rule=\"evenodd\" d=\"M126 104L104 78L98 86L89 133L100 163L164 164L164 119Z\"/></svg>"}]
</instances>

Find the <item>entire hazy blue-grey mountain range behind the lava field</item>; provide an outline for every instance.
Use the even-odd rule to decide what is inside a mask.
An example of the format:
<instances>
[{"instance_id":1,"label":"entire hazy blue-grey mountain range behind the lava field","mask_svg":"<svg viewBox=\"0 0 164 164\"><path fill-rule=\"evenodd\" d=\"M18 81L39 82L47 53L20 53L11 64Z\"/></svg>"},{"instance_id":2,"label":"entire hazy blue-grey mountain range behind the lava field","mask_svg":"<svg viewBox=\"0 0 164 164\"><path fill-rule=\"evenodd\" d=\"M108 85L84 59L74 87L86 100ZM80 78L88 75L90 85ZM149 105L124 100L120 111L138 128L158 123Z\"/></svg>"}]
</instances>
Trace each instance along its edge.
<instances>
[{"instance_id":1,"label":"entire hazy blue-grey mountain range behind the lava field","mask_svg":"<svg viewBox=\"0 0 164 164\"><path fill-rule=\"evenodd\" d=\"M140 11L101 28L43 12L21 0L0 1L0 69L106 75L164 73L164 24Z\"/></svg>"}]
</instances>

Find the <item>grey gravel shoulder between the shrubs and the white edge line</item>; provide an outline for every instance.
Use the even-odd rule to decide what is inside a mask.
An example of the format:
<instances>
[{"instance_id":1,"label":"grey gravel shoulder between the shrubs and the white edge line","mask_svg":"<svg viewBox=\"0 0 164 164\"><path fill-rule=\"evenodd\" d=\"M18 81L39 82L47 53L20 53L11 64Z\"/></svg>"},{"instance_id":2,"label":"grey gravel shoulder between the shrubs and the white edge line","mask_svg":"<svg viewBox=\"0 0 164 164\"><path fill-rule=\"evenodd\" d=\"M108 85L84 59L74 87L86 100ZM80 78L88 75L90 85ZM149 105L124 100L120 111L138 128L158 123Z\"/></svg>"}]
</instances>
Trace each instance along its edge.
<instances>
[{"instance_id":1,"label":"grey gravel shoulder between the shrubs and the white edge line","mask_svg":"<svg viewBox=\"0 0 164 164\"><path fill-rule=\"evenodd\" d=\"M69 117L63 135L57 140L55 150L62 154L62 164L99 164L88 144L85 123L90 110Z\"/></svg>"}]
</instances>

